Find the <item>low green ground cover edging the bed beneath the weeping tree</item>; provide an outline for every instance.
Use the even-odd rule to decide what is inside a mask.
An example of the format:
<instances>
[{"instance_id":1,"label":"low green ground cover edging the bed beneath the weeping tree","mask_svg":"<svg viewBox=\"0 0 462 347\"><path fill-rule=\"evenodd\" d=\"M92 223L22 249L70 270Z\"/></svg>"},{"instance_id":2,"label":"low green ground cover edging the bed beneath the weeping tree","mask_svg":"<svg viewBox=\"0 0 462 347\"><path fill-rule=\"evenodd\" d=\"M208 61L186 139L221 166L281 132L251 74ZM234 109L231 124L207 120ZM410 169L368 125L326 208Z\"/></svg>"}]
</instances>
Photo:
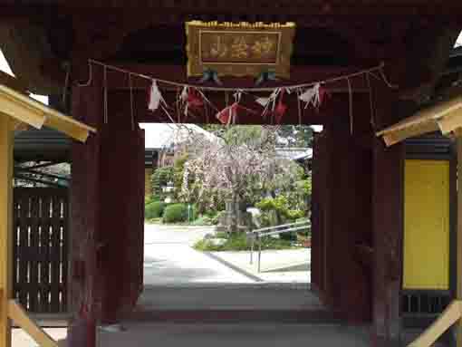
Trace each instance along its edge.
<instances>
[{"instance_id":1,"label":"low green ground cover edging the bed beneath the weeping tree","mask_svg":"<svg viewBox=\"0 0 462 347\"><path fill-rule=\"evenodd\" d=\"M247 251L250 250L251 243L247 240L244 233L226 236L226 243L217 246L213 245L210 240L203 239L194 245L194 249L198 251ZM255 244L256 246L256 244ZM286 240L281 240L273 237L265 237L262 239L262 249L294 249L299 248L293 246L293 243Z\"/></svg>"}]
</instances>

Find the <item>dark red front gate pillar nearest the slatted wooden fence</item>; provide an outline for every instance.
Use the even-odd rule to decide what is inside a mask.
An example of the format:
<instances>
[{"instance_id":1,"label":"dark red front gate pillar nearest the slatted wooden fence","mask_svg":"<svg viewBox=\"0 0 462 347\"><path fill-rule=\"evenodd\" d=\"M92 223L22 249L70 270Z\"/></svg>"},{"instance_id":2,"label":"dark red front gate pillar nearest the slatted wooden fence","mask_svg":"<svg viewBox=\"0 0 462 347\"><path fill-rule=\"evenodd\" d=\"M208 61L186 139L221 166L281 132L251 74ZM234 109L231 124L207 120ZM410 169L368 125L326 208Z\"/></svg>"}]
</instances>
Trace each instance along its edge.
<instances>
[{"instance_id":1,"label":"dark red front gate pillar nearest the slatted wooden fence","mask_svg":"<svg viewBox=\"0 0 462 347\"><path fill-rule=\"evenodd\" d=\"M87 66L82 64L82 66ZM72 117L101 129L103 90L101 71L93 67L88 86L72 89ZM97 249L101 226L101 134L85 145L72 143L71 274L69 278L71 321L70 347L94 347L99 310Z\"/></svg>"}]
</instances>

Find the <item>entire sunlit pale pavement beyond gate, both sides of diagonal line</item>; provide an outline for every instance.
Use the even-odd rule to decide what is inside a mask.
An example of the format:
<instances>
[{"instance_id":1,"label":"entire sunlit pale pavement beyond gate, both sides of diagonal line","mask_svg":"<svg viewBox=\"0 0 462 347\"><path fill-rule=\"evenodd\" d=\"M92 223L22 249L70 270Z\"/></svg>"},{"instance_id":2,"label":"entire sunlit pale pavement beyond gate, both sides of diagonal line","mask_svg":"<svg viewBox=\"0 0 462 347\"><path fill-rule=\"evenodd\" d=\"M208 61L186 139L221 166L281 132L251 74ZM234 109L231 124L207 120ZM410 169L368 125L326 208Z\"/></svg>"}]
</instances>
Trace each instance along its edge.
<instances>
[{"instance_id":1,"label":"entire sunlit pale pavement beyond gate, both sides of diagonal line","mask_svg":"<svg viewBox=\"0 0 462 347\"><path fill-rule=\"evenodd\" d=\"M249 252L204 253L192 248L214 229L145 225L144 284L310 283L310 248L263 251L262 271L258 273L256 252L250 265Z\"/></svg>"}]
</instances>

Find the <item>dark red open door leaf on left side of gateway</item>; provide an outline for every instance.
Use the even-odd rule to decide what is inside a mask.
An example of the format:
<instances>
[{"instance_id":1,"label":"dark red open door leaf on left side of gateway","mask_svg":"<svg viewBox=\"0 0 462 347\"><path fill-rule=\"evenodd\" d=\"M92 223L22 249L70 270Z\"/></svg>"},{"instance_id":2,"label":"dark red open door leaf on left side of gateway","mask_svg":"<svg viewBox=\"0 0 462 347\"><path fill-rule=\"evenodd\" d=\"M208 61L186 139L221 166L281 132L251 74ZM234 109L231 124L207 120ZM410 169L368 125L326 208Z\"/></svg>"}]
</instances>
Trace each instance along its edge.
<instances>
[{"instance_id":1,"label":"dark red open door leaf on left side of gateway","mask_svg":"<svg viewBox=\"0 0 462 347\"><path fill-rule=\"evenodd\" d=\"M118 120L129 120L128 122ZM111 113L101 150L101 323L120 321L142 291L144 137L130 114Z\"/></svg>"}]
</instances>

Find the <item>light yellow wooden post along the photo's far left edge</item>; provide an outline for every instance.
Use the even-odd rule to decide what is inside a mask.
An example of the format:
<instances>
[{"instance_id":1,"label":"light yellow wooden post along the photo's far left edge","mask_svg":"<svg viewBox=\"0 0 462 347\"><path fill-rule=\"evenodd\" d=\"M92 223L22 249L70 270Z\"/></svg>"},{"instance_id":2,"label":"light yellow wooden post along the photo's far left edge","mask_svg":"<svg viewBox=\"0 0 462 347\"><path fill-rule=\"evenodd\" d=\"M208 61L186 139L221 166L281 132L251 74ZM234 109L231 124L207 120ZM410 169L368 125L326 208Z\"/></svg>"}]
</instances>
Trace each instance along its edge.
<instances>
[{"instance_id":1,"label":"light yellow wooden post along the photo's far left edge","mask_svg":"<svg viewBox=\"0 0 462 347\"><path fill-rule=\"evenodd\" d=\"M13 123L0 117L0 347L11 346L8 302L13 296Z\"/></svg>"}]
</instances>

